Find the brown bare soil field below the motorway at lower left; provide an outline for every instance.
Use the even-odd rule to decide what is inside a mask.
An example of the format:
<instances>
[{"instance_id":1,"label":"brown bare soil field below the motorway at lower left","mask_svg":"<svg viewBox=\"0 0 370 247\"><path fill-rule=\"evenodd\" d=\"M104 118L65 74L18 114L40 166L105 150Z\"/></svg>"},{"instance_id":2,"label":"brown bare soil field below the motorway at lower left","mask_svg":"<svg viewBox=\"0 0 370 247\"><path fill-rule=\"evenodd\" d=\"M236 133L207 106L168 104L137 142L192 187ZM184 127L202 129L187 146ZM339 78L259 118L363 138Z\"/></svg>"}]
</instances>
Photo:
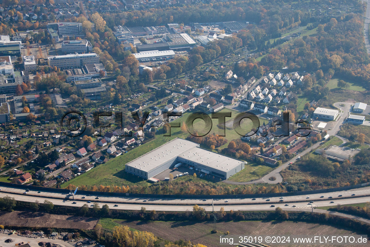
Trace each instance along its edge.
<instances>
[{"instance_id":1,"label":"brown bare soil field below the motorway at lower left","mask_svg":"<svg viewBox=\"0 0 370 247\"><path fill-rule=\"evenodd\" d=\"M5 226L92 229L97 224L98 218L13 211L2 212L0 222Z\"/></svg>"}]
</instances>

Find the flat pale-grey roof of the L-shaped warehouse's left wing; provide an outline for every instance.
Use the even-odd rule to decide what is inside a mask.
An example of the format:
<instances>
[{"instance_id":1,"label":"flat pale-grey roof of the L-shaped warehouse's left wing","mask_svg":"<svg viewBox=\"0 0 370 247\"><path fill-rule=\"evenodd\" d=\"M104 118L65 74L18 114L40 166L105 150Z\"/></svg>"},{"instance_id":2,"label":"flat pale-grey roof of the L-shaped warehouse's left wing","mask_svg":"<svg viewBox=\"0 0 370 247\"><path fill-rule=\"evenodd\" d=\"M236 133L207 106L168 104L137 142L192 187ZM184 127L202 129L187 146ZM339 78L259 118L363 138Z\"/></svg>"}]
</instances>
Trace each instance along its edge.
<instances>
[{"instance_id":1,"label":"flat pale-grey roof of the L-shaped warehouse's left wing","mask_svg":"<svg viewBox=\"0 0 370 247\"><path fill-rule=\"evenodd\" d=\"M177 156L181 155L185 151L198 145L198 143L194 143L192 141L175 138L174 140L155 148L149 153L143 154L135 160L130 161L126 165L149 172L155 167L161 166L173 158L177 158Z\"/></svg>"}]
</instances>

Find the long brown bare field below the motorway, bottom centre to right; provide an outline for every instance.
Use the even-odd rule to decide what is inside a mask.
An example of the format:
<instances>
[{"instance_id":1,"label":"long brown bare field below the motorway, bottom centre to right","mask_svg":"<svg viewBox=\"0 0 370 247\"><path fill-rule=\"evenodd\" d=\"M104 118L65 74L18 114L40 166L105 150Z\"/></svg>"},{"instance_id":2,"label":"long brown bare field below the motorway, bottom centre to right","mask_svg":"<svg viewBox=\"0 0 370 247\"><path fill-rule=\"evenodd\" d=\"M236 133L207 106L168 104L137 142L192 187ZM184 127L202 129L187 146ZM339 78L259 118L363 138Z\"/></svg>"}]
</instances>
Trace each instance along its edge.
<instances>
[{"instance_id":1,"label":"long brown bare field below the motorway, bottom centre to right","mask_svg":"<svg viewBox=\"0 0 370 247\"><path fill-rule=\"evenodd\" d=\"M213 222L192 223L191 221L116 221L117 223L129 226L139 231L149 231L155 236L169 241L179 239L190 240L192 243L201 243L208 247L220 246L219 234L211 234ZM338 229L332 226L293 222L293 221L229 221L217 223L217 230L222 233L229 231L230 234L240 236L250 235L346 235L354 234L350 230ZM226 236L226 235L225 235ZM283 245L279 245L283 246ZM298 245L297 245L298 246ZM317 245L319 246L319 245ZM328 247L329 245L326 245Z\"/></svg>"}]
</instances>

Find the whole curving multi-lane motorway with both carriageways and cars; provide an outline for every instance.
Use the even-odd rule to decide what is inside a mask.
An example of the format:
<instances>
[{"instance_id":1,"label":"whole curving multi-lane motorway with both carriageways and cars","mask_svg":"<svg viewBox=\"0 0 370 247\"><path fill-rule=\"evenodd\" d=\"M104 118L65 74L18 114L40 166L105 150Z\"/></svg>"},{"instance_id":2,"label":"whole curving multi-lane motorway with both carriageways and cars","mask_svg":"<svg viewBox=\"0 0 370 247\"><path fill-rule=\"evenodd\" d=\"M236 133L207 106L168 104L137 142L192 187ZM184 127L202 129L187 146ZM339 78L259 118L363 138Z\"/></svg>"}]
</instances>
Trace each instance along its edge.
<instances>
[{"instance_id":1,"label":"whole curving multi-lane motorway with both carriageways and cars","mask_svg":"<svg viewBox=\"0 0 370 247\"><path fill-rule=\"evenodd\" d=\"M281 207L284 210L292 211L310 211L314 207L335 206L337 204L353 204L366 203L370 201L370 187L361 187L351 190L343 190L336 192L326 192L319 194L306 194L298 196L284 197L258 197L256 198L228 198L225 195L222 199L199 199L199 198L134 198L134 197L117 197L88 194L75 194L74 200L72 196L66 193L53 193L31 189L25 191L21 188L0 187L0 197L11 196L18 201L52 201L55 205L81 207L83 204L92 205L94 202L100 206L108 204L110 208L121 210L140 210L145 206L147 210L159 211L186 211L192 210L192 207L197 204L207 211L219 211L221 207L225 210L275 210L275 207ZM82 193L82 191L80 191ZM185 196L184 196L185 197ZM313 201L312 205L308 204ZM75 203L73 203L75 202ZM88 203L89 202L89 203ZM288 206L285 206L288 204ZM275 207L272 207L275 206ZM293 207L295 206L295 207Z\"/></svg>"}]
</instances>

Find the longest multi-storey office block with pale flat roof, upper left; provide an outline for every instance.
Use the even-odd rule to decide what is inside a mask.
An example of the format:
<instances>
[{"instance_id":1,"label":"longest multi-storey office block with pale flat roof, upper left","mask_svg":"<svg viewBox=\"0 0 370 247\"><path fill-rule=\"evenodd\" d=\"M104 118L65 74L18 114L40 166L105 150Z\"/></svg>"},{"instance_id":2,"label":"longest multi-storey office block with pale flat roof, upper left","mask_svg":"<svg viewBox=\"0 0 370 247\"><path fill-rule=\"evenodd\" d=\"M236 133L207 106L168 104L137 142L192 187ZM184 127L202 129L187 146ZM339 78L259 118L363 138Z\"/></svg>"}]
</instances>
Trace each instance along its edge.
<instances>
[{"instance_id":1,"label":"longest multi-storey office block with pale flat roof, upper left","mask_svg":"<svg viewBox=\"0 0 370 247\"><path fill-rule=\"evenodd\" d=\"M48 57L48 62L51 67L56 66L59 69L81 68L85 64L99 63L99 55L87 53L51 56Z\"/></svg>"}]
</instances>

